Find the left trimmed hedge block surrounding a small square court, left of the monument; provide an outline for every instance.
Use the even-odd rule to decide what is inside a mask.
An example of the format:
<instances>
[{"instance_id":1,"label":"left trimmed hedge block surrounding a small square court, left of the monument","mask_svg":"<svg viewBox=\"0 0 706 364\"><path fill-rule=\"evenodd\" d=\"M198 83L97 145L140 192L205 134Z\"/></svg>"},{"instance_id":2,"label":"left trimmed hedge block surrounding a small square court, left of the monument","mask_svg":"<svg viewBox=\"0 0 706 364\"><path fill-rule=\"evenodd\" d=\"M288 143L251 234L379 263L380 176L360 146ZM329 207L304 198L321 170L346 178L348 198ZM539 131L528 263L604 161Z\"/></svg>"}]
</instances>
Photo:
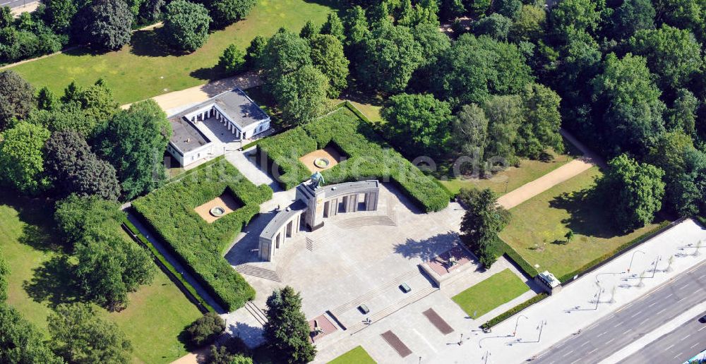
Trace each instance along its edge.
<instances>
[{"instance_id":1,"label":"left trimmed hedge block surrounding a small square court, left of the monument","mask_svg":"<svg viewBox=\"0 0 706 364\"><path fill-rule=\"evenodd\" d=\"M193 210L225 190L244 206L208 224ZM272 198L268 186L255 186L225 159L217 159L133 201L133 207L162 241L191 269L204 288L229 311L255 298L255 290L223 258L223 250L250 220L260 204Z\"/></svg>"}]
</instances>

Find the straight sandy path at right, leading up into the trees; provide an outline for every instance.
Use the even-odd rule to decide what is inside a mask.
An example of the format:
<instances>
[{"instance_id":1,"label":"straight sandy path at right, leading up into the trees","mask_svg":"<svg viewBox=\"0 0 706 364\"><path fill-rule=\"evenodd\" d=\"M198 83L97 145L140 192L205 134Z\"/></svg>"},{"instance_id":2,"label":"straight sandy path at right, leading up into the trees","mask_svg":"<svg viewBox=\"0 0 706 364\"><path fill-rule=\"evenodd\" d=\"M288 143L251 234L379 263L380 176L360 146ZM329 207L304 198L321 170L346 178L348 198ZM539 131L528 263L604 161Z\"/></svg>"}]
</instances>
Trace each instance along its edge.
<instances>
[{"instance_id":1,"label":"straight sandy path at right, leading up into the trees","mask_svg":"<svg viewBox=\"0 0 706 364\"><path fill-rule=\"evenodd\" d=\"M571 162L568 162L567 164L564 164L563 166L560 166L557 169L554 169L554 171L535 179L532 182L525 183L524 185L515 188L515 190L505 193L505 195L502 195L501 198L498 198L498 204L505 207L505 209L510 210L511 208L520 205L522 202L530 200L530 198L549 190L549 188L552 188L570 178L578 176L578 174L587 171L592 166L606 166L601 157L594 154L594 152L589 150L585 145L583 145L582 142L576 140L576 138L568 133L568 131L561 129L560 133L578 150L580 150L583 155Z\"/></svg>"}]
</instances>

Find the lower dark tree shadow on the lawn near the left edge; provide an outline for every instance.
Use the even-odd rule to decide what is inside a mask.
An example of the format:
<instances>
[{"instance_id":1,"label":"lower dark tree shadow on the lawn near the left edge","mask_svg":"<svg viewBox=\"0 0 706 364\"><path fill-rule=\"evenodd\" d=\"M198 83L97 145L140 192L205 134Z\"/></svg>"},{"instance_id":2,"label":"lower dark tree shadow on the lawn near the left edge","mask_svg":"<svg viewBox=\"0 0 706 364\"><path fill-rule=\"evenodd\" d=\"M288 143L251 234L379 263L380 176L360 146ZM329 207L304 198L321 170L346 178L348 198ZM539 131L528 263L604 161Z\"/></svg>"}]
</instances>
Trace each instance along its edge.
<instances>
[{"instance_id":1,"label":"lower dark tree shadow on the lawn near the left edge","mask_svg":"<svg viewBox=\"0 0 706 364\"><path fill-rule=\"evenodd\" d=\"M55 255L34 270L30 281L23 282L23 289L35 302L48 301L54 308L60 303L71 303L80 300L71 272L73 265L68 261L68 255Z\"/></svg>"}]
</instances>

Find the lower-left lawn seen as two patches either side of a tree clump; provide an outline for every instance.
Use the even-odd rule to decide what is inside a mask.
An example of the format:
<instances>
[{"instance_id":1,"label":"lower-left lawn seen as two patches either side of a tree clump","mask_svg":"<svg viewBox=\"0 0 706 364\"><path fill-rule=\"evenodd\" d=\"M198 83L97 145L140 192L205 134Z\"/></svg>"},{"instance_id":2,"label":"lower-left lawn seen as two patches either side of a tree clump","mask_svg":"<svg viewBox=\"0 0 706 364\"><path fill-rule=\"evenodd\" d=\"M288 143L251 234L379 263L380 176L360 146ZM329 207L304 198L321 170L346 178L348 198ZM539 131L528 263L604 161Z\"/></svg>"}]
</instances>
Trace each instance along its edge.
<instances>
[{"instance_id":1,"label":"lower-left lawn seen as two patches either side of a tree clump","mask_svg":"<svg viewBox=\"0 0 706 364\"><path fill-rule=\"evenodd\" d=\"M11 269L8 303L45 334L51 307L74 298L73 287L62 274L66 255L51 238L56 234L50 230L49 211L40 201L0 199L0 245ZM152 284L128 298L128 308L119 313L98 310L130 339L133 362L169 363L176 359L177 349L184 355L177 336L201 313L167 276L157 269Z\"/></svg>"}]
</instances>

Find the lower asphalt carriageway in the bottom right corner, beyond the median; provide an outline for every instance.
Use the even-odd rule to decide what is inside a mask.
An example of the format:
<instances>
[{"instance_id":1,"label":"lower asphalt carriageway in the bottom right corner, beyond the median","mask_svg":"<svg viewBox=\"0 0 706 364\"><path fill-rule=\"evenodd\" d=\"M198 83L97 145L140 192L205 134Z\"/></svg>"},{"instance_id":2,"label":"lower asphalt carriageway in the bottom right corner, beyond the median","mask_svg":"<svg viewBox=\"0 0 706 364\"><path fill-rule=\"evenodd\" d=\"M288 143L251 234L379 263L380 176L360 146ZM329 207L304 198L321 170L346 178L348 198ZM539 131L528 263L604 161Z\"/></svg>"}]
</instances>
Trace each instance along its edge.
<instances>
[{"instance_id":1,"label":"lower asphalt carriageway in the bottom right corner, beyond the median","mask_svg":"<svg viewBox=\"0 0 706 364\"><path fill-rule=\"evenodd\" d=\"M621 364L683 363L693 358L706 349L706 324L698 322L703 315L706 313L693 317L673 332L652 341Z\"/></svg>"}]
</instances>

